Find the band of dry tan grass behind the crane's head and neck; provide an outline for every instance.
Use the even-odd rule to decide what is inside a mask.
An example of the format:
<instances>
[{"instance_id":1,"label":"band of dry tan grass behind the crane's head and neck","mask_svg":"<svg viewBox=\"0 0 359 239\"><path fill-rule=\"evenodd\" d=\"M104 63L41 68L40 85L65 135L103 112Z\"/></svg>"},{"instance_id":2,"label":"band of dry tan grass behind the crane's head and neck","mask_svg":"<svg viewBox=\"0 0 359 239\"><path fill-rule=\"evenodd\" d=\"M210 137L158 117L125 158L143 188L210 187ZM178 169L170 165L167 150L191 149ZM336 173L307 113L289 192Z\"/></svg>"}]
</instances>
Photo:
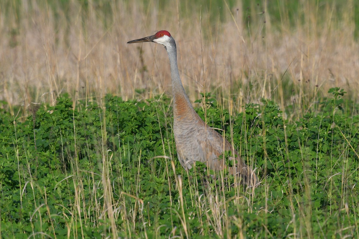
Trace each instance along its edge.
<instances>
[{"instance_id":1,"label":"band of dry tan grass behind the crane's head and neck","mask_svg":"<svg viewBox=\"0 0 359 239\"><path fill-rule=\"evenodd\" d=\"M67 11L19 2L19 13L0 14L0 99L10 106L53 104L64 92L74 100L106 93L124 99L170 94L162 46L126 44L161 29L176 39L180 74L192 101L199 99L198 92L213 91L235 94L238 106L261 97L273 97L284 106L289 99L310 100L317 91L334 86L358 95L359 44L354 39L354 11L349 10L353 0L345 8L348 12L340 14L329 3L317 10L315 3L304 1L298 12L306 17L294 26L283 14L285 6L279 24L266 3L251 10L237 3L219 20L210 17L206 6L184 11L175 2L159 7L151 1L145 8L137 1L114 1L107 13L92 1L84 9L71 0ZM284 72L288 82L283 85ZM243 87L248 85L251 88ZM145 90L137 94L136 89Z\"/></svg>"}]
</instances>

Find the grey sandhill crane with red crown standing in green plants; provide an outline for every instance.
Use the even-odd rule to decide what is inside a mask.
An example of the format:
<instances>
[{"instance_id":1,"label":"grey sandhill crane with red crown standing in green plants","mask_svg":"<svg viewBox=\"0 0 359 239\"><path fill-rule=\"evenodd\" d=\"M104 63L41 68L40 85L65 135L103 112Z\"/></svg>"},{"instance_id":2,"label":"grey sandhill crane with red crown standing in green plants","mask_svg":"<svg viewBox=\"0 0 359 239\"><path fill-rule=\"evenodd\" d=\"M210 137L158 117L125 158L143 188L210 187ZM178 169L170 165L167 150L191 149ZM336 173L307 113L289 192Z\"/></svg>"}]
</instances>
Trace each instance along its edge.
<instances>
[{"instance_id":1,"label":"grey sandhill crane with red crown standing in green plants","mask_svg":"<svg viewBox=\"0 0 359 239\"><path fill-rule=\"evenodd\" d=\"M226 166L223 157L220 156L224 151L231 151L235 158L231 157L230 160L234 159L237 162L234 164L235 166L228 168L228 172L241 176L242 182L255 187L258 183L255 172L238 157L238 152L228 140L206 125L194 110L178 73L176 42L171 34L161 30L152 36L131 40L127 43L138 42L159 43L167 50L172 77L174 139L178 159L182 166L185 169L190 169L196 161L200 161L207 162L210 169L222 170Z\"/></svg>"}]
</instances>

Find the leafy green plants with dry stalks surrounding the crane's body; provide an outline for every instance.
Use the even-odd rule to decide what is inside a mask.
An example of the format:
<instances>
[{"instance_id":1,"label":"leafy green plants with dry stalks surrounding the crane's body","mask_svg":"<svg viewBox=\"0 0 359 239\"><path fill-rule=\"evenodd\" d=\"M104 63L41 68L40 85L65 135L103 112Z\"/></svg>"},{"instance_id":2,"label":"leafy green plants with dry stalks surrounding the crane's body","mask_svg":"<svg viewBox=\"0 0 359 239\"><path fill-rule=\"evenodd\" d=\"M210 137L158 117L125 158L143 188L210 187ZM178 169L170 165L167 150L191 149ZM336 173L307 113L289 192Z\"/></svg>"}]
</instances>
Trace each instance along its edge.
<instances>
[{"instance_id":1,"label":"leafy green plants with dry stalks surrounding the crane's body","mask_svg":"<svg viewBox=\"0 0 359 239\"><path fill-rule=\"evenodd\" d=\"M359 238L359 105L343 95L293 120L267 100L230 116L202 95L199 114L258 168L255 190L182 169L167 97L65 94L25 119L1 102L0 238Z\"/></svg>"}]
</instances>

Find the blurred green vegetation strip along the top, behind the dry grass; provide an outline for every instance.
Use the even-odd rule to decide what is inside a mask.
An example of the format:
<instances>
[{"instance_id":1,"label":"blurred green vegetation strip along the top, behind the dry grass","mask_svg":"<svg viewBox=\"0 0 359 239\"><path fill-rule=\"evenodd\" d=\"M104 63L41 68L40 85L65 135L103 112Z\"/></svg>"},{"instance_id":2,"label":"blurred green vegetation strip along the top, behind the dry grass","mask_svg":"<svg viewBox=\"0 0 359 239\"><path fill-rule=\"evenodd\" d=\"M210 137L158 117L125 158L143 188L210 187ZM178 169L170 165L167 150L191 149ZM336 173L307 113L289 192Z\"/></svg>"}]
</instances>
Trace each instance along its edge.
<instances>
[{"instance_id":1,"label":"blurred green vegetation strip along the top, behind the dry grass","mask_svg":"<svg viewBox=\"0 0 359 239\"><path fill-rule=\"evenodd\" d=\"M124 1L126 6L129 6L131 1ZM158 2L137 0L138 5L143 5L146 9L152 8L154 5L160 11L167 11L169 8L173 8L173 3L166 0L159 0ZM51 10L55 13L56 20L61 20L61 15L65 14L66 19L70 20L70 5L75 4L81 9L81 14L83 19L87 18L87 15L90 14L90 11L93 9L96 10L97 16L101 23L106 27L109 27L113 20L113 14L116 11L116 1L110 0L61 0L61 1L38 1L38 2L27 2L23 0L4 0L1 2L0 6L4 9L4 13L9 17L13 15L14 19L17 19L16 24L20 24L20 19L23 16L23 9L28 8L29 10L36 9L40 7L41 9ZM284 23L290 27L295 27L298 24L305 24L308 18L308 8L315 8L313 10L317 11L318 24L321 23L321 18L325 16L328 8L331 8L333 14L337 18L343 19L348 17L348 13L353 15L353 20L355 24L355 35L358 36L359 31L359 2L353 0L342 0L342 1L327 1L327 0L317 0L317 1L286 1L286 0L277 0L277 1L260 1L260 0L214 0L214 1L204 1L204 0L192 0L192 1L179 1L178 2L178 13L182 17L191 17L194 13L199 13L200 11L209 15L210 21L216 25L217 18L220 18L221 21L224 21L228 16L228 8L233 10L233 13L236 14L239 8L243 9L242 20L247 21L258 21L256 14L264 13L264 11L269 12L272 21L278 25ZM93 8L93 9L92 9ZM349 11L348 11L349 9ZM265 19L259 18L260 21ZM56 27L59 27L57 25Z\"/></svg>"}]
</instances>

